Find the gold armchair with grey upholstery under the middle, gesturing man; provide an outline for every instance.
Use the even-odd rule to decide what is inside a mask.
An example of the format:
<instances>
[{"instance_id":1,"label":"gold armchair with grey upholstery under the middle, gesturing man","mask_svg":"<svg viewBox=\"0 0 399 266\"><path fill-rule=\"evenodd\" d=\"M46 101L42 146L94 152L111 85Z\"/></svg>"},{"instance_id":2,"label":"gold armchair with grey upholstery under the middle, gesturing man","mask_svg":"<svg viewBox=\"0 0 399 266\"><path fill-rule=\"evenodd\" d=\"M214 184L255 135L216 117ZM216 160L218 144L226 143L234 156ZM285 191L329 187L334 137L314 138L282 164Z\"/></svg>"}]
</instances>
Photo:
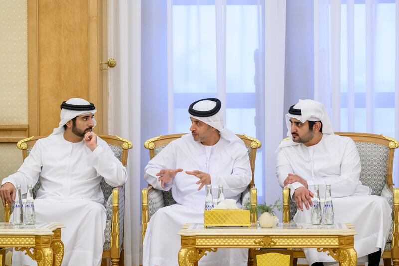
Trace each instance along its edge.
<instances>
[{"instance_id":1,"label":"gold armchair with grey upholstery under the middle, gesturing man","mask_svg":"<svg viewBox=\"0 0 399 266\"><path fill-rule=\"evenodd\" d=\"M185 133L186 134L186 133ZM166 145L172 140L178 139L185 134L174 134L166 136L158 136L151 138L144 143L144 147L150 152L150 159L156 156ZM257 222L256 204L257 204L257 190L254 187L254 172L255 172L255 159L256 151L261 147L261 142L255 138L243 135L238 135L242 139L246 148L248 149L249 162L252 170L252 181L248 188L241 194L241 203L251 201L252 215L251 221ZM147 229L147 223L150 221L151 216L159 209L175 203L171 191L160 191L148 186L141 191L142 195L142 241ZM250 255L251 256L251 255Z\"/></svg>"}]
</instances>

